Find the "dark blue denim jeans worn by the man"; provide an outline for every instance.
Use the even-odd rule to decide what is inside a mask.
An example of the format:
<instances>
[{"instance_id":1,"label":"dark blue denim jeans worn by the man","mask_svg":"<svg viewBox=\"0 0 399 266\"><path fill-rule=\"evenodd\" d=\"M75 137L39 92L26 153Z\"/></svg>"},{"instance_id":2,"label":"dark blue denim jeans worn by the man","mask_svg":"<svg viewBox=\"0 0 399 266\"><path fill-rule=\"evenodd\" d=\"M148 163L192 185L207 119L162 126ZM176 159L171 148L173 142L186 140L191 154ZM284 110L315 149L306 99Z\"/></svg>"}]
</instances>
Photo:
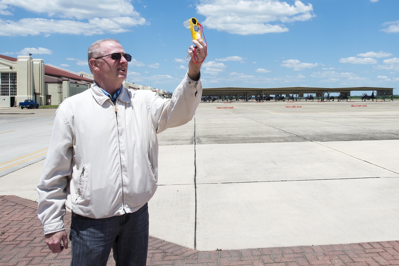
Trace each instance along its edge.
<instances>
[{"instance_id":1,"label":"dark blue denim jeans worn by the man","mask_svg":"<svg viewBox=\"0 0 399 266\"><path fill-rule=\"evenodd\" d=\"M134 213L93 219L72 213L71 266L107 264L111 248L117 266L145 266L148 251L148 205Z\"/></svg>"}]
</instances>

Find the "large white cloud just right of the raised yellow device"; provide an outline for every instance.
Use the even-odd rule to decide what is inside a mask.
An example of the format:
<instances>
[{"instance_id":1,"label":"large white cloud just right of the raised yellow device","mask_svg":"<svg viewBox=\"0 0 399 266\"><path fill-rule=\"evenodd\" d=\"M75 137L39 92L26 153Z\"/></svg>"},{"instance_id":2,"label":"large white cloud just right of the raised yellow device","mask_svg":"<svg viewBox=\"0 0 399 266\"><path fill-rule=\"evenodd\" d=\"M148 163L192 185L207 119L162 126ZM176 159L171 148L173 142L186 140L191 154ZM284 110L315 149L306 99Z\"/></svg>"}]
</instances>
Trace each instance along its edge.
<instances>
[{"instance_id":1,"label":"large white cloud just right of the raised yellow device","mask_svg":"<svg viewBox=\"0 0 399 266\"><path fill-rule=\"evenodd\" d=\"M294 5L280 0L202 0L196 9L206 17L203 26L241 35L288 32L280 23L306 21L315 16L312 4L299 0Z\"/></svg>"}]
</instances>

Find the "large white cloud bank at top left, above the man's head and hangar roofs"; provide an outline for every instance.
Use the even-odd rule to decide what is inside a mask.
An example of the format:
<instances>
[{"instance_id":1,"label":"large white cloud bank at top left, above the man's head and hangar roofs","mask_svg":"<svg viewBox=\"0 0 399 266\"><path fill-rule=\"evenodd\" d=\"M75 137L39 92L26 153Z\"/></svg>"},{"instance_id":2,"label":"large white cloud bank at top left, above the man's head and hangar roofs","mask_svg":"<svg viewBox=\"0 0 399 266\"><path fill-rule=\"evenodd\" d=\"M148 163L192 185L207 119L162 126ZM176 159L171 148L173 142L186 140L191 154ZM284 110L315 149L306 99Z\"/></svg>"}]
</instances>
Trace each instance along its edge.
<instances>
[{"instance_id":1,"label":"large white cloud bank at top left, above the man's head and hangar roofs","mask_svg":"<svg viewBox=\"0 0 399 266\"><path fill-rule=\"evenodd\" d=\"M120 33L130 31L129 28L133 26L147 24L146 20L134 10L130 0L1 0L0 2L0 14L11 15L11 11L15 8L37 14L46 13L51 19L0 20L0 36ZM120 16L120 10L123 10L124 16Z\"/></svg>"}]
</instances>

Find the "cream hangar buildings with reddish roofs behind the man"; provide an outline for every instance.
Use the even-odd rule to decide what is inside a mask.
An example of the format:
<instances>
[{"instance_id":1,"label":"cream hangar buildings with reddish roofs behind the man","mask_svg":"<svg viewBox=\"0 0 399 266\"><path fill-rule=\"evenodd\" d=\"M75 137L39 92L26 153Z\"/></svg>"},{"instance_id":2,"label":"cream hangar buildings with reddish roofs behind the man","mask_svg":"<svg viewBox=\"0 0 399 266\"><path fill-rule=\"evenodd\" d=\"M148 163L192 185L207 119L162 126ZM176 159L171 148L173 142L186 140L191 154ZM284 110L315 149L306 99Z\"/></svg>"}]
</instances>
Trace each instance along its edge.
<instances>
[{"instance_id":1,"label":"cream hangar buildings with reddish roofs behind the man","mask_svg":"<svg viewBox=\"0 0 399 266\"><path fill-rule=\"evenodd\" d=\"M87 90L93 75L75 73L61 67L44 64L43 59L30 55L18 58L0 55L0 107L18 106L19 102L34 99L40 105L58 105L67 97ZM170 97L168 91L124 81L130 89L152 90L161 97Z\"/></svg>"}]
</instances>

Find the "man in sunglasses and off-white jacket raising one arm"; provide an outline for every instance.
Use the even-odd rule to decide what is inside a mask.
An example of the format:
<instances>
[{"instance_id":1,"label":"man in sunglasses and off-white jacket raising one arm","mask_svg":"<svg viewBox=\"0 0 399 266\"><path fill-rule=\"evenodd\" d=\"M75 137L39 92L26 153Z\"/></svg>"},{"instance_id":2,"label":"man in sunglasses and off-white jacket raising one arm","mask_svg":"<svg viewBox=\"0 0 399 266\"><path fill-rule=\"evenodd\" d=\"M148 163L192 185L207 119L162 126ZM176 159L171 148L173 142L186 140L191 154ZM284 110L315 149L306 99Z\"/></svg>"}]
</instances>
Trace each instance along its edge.
<instances>
[{"instance_id":1,"label":"man in sunglasses and off-white jacket raising one arm","mask_svg":"<svg viewBox=\"0 0 399 266\"><path fill-rule=\"evenodd\" d=\"M193 40L198 62L206 44ZM188 49L194 56L194 45ZM148 208L157 187L156 134L187 123L202 93L201 63L173 93L161 99L152 91L124 88L128 61L119 41L104 39L88 51L91 88L66 99L54 118L53 134L38 185L38 215L53 253L68 248L63 224L72 210L71 265L146 265ZM62 246L63 245L63 246Z\"/></svg>"}]
</instances>

